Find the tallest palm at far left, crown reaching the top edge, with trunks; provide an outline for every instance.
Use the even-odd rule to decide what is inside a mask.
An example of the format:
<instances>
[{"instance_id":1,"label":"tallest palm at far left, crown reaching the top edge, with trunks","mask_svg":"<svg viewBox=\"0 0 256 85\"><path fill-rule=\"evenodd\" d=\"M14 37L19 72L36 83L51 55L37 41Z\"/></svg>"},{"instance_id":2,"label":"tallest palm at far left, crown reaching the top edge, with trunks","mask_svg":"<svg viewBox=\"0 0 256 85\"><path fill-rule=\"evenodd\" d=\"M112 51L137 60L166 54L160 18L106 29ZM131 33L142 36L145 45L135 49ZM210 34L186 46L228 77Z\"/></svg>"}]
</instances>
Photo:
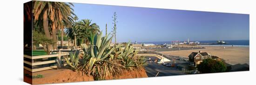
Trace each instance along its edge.
<instances>
[{"instance_id":1,"label":"tallest palm at far left, crown reaching the top edge, with trunks","mask_svg":"<svg viewBox=\"0 0 256 85\"><path fill-rule=\"evenodd\" d=\"M42 21L47 38L51 38L48 28L49 26L52 28L53 41L57 42L56 27L61 29L64 28L65 25L69 25L73 22L71 15L75 14L73 13L74 10L70 6L74 5L72 3L67 4L64 2L34 1L34 19ZM54 43L53 46L54 49L57 49L56 43ZM47 48L49 51L52 49L52 46L47 45Z\"/></svg>"}]
</instances>

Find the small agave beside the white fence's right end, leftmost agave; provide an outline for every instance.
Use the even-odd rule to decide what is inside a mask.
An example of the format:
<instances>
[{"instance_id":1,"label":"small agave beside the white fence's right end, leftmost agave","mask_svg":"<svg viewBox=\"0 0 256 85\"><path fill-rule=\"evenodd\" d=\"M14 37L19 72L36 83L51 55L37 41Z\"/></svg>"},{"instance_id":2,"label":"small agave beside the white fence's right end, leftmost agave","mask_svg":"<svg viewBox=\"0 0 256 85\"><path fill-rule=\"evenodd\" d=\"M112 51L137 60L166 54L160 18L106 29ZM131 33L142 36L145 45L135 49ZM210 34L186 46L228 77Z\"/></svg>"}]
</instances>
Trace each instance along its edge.
<instances>
[{"instance_id":1,"label":"small agave beside the white fence's right end, leftmost agave","mask_svg":"<svg viewBox=\"0 0 256 85\"><path fill-rule=\"evenodd\" d=\"M70 66L73 70L78 69L78 62L79 62L79 51L70 52L70 60L68 57L64 57L65 63L67 63L68 66Z\"/></svg>"}]
</instances>

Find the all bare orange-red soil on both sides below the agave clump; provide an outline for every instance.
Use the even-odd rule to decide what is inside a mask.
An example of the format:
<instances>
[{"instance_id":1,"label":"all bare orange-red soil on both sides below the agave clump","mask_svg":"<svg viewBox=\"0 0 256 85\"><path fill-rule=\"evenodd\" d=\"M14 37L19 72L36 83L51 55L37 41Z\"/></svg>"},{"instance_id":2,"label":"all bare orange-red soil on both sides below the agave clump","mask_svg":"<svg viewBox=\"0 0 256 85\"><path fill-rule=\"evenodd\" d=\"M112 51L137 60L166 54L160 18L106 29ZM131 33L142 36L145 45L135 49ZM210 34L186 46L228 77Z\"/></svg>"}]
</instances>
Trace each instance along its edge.
<instances>
[{"instance_id":1,"label":"all bare orange-red soil on both sides below the agave clump","mask_svg":"<svg viewBox=\"0 0 256 85\"><path fill-rule=\"evenodd\" d=\"M33 73L33 76L41 74L43 78L33 79L33 85L38 84L55 84L55 83L69 83L81 81L94 81L93 76L88 77L86 74L82 76L80 71L74 72L70 69L52 69ZM110 79L133 79L133 78L147 78L147 73L144 68L135 70L123 70L121 74L115 76L108 76L106 80ZM31 79L30 79L31 80ZM25 81L25 78L24 78Z\"/></svg>"}]
</instances>

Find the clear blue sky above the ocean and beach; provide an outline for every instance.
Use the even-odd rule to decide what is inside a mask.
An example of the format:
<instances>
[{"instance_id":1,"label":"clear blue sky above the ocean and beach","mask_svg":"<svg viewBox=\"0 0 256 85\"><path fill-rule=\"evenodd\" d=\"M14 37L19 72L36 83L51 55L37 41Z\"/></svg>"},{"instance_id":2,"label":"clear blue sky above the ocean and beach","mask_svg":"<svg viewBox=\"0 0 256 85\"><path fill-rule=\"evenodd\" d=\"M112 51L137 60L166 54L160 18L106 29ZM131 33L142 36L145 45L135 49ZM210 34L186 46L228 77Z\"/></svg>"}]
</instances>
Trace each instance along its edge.
<instances>
[{"instance_id":1,"label":"clear blue sky above the ocean and beach","mask_svg":"<svg viewBox=\"0 0 256 85\"><path fill-rule=\"evenodd\" d=\"M249 40L249 14L199 12L74 3L74 13L91 19L105 34L117 13L117 42Z\"/></svg>"}]
</instances>

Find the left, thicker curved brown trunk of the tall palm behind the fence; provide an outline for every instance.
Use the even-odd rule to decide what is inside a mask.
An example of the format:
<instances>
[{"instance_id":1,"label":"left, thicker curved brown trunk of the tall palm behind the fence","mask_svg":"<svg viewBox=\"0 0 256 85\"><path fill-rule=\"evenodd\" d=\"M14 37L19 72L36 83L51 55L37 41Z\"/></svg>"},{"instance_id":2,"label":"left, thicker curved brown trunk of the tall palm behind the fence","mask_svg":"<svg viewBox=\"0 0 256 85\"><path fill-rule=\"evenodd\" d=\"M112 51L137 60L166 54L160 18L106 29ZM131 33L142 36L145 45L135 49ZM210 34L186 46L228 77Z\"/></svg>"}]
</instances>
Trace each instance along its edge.
<instances>
[{"instance_id":1,"label":"left, thicker curved brown trunk of the tall palm behind the fence","mask_svg":"<svg viewBox=\"0 0 256 85\"><path fill-rule=\"evenodd\" d=\"M49 31L48 26L49 25L48 25L48 19L47 19L47 11L45 11L44 14L43 14L43 29L44 29L44 33L45 33L45 36L48 39L52 39L51 36L50 36L50 31ZM52 49L53 49L53 45L52 44L47 44L47 52L50 52Z\"/></svg>"}]
</instances>

